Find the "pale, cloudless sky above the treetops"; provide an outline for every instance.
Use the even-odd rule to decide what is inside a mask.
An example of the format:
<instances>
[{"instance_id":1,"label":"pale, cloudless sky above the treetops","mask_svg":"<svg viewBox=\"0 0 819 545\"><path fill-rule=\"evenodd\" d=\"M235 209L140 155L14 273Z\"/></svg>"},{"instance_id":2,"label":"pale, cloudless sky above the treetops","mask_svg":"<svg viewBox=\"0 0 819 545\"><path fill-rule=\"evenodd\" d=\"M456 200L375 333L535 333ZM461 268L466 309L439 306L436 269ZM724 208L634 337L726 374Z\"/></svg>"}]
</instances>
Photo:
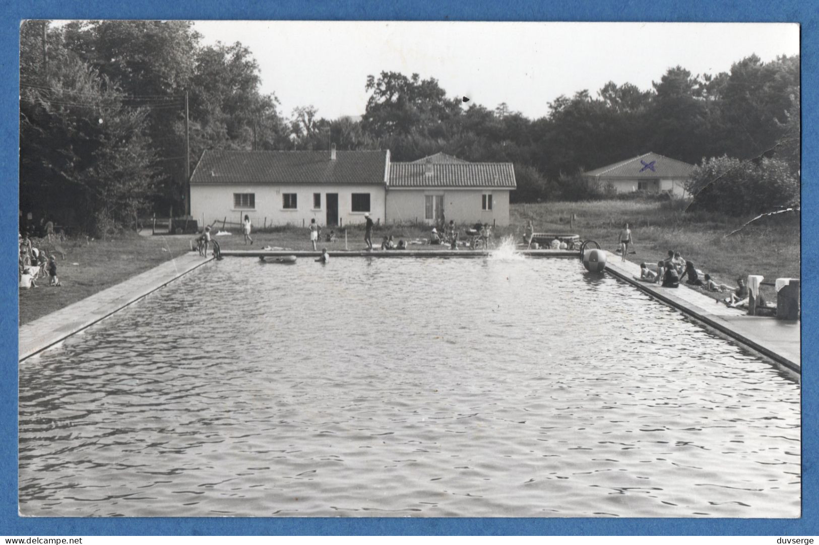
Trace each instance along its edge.
<instances>
[{"instance_id":1,"label":"pale, cloudless sky above the treetops","mask_svg":"<svg viewBox=\"0 0 819 545\"><path fill-rule=\"evenodd\" d=\"M362 115L369 74L433 77L450 97L490 109L506 102L532 119L560 95L605 83L651 88L667 68L717 74L745 56L799 53L799 25L778 23L486 23L197 21L202 43L241 42L260 66L261 90L286 117Z\"/></svg>"}]
</instances>

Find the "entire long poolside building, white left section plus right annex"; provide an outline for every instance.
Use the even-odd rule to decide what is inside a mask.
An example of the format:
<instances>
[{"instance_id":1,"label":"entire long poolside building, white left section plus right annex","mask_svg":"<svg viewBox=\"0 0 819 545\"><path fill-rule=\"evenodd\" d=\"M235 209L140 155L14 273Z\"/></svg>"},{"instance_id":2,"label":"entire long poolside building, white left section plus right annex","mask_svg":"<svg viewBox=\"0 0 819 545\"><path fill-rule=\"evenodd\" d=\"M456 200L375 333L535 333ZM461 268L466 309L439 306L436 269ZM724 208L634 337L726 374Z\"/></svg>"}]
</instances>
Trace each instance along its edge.
<instances>
[{"instance_id":1,"label":"entire long poolside building, white left section plus right annex","mask_svg":"<svg viewBox=\"0 0 819 545\"><path fill-rule=\"evenodd\" d=\"M202 224L247 215L256 227L425 221L509 223L511 163L436 154L391 163L389 151L205 151L191 176Z\"/></svg>"}]
</instances>

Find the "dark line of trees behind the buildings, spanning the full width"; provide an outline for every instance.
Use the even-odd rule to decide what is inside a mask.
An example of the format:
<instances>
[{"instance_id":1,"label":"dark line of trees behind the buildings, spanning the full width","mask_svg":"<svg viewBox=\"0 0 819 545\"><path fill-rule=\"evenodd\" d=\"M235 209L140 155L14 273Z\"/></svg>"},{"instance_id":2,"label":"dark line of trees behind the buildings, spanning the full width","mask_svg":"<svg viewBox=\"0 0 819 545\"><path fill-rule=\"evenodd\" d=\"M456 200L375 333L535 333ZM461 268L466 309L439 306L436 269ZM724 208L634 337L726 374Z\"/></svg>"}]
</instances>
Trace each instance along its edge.
<instances>
[{"instance_id":1,"label":"dark line of trees behind the buildings, spanning the full width","mask_svg":"<svg viewBox=\"0 0 819 545\"><path fill-rule=\"evenodd\" d=\"M464 103L432 77L387 71L363 82L360 118L326 119L312 105L285 115L260 82L247 47L204 45L188 21L25 21L21 209L113 232L150 210L183 214L186 173L206 149L323 150L330 142L389 149L393 160L444 151L509 161L512 199L523 202L603 196L579 173L646 151L697 164L692 189L708 196L704 208L747 213L799 199L799 56L751 55L720 74L675 66L647 90L609 82L557 97L538 119L505 103ZM774 201L743 196L749 204L740 210L713 198L771 180L781 195Z\"/></svg>"}]
</instances>

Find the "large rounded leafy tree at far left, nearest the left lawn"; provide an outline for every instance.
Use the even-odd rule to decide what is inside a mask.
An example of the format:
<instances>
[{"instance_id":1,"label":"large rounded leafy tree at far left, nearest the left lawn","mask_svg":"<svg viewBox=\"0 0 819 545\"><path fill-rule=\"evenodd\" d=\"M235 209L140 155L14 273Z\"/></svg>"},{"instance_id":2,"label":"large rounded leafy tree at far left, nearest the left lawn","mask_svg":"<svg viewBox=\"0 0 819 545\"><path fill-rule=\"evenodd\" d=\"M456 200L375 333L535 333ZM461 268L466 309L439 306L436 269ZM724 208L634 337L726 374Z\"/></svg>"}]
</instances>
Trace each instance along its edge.
<instances>
[{"instance_id":1,"label":"large rounded leafy tree at far left, nearest the left lawn","mask_svg":"<svg viewBox=\"0 0 819 545\"><path fill-rule=\"evenodd\" d=\"M132 225L154 191L147 109L76 56L20 92L20 203L106 236Z\"/></svg>"}]
</instances>

